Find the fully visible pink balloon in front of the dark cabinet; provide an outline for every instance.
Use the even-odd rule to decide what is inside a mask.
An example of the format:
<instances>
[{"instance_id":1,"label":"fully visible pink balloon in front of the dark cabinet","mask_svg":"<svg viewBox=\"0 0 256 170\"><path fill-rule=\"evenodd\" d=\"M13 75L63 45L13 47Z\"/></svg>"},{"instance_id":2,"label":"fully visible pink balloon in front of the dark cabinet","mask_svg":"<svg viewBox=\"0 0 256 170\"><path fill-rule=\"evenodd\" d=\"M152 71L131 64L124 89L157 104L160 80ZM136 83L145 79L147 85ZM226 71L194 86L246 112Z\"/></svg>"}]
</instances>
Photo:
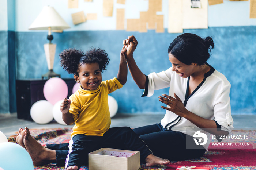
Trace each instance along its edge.
<instances>
[{"instance_id":1,"label":"fully visible pink balloon in front of the dark cabinet","mask_svg":"<svg viewBox=\"0 0 256 170\"><path fill-rule=\"evenodd\" d=\"M51 104L68 97L68 85L59 77L50 78L44 85L44 96Z\"/></svg>"}]
</instances>

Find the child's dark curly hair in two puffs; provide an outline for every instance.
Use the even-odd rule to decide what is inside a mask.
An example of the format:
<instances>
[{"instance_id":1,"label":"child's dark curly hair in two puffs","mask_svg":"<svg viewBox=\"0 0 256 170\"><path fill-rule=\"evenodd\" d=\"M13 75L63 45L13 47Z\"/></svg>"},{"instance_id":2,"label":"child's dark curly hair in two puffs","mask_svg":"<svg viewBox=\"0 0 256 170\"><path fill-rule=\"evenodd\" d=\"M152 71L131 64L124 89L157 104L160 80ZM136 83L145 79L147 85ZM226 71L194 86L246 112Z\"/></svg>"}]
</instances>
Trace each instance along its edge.
<instances>
[{"instance_id":1,"label":"child's dark curly hair in two puffs","mask_svg":"<svg viewBox=\"0 0 256 170\"><path fill-rule=\"evenodd\" d=\"M109 64L108 54L100 48L91 48L85 54L81 50L65 49L60 54L60 63L69 74L78 75L82 64L98 63L101 72Z\"/></svg>"}]
</instances>

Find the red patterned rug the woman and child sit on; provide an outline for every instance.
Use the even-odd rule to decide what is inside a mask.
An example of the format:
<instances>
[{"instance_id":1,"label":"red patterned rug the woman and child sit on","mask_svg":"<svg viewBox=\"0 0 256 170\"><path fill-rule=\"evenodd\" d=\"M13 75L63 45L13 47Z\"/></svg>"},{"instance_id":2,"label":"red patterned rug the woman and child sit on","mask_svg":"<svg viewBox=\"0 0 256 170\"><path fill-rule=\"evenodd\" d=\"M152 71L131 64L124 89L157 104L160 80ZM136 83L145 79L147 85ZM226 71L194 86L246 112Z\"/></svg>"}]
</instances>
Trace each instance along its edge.
<instances>
[{"instance_id":1,"label":"red patterned rug the woman and child sit on","mask_svg":"<svg viewBox=\"0 0 256 170\"><path fill-rule=\"evenodd\" d=\"M30 133L43 146L46 144L68 143L72 128L54 129L31 129ZM140 165L139 170L175 170L178 166L209 167L211 170L256 170L256 131L232 131L231 134L246 135L248 139L232 139L233 142L250 142L250 146L245 149L236 149L227 146L213 146L216 139L211 139L208 152L203 157L192 160L172 161L167 166L147 167ZM15 137L8 138L9 142L16 142ZM35 166L34 170L63 170L64 167L57 167L55 164L45 166ZM88 170L88 166L83 166L80 170Z\"/></svg>"}]
</instances>

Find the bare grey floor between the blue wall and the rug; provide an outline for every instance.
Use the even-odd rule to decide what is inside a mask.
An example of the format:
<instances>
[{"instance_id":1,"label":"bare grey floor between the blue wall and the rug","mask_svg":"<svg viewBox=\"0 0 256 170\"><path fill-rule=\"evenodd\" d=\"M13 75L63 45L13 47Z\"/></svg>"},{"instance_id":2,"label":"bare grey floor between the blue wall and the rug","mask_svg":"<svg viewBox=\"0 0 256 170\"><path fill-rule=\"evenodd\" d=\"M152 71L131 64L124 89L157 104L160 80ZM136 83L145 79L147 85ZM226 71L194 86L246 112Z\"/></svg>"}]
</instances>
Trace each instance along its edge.
<instances>
[{"instance_id":1,"label":"bare grey floor between the blue wall and the rug","mask_svg":"<svg viewBox=\"0 0 256 170\"><path fill-rule=\"evenodd\" d=\"M129 126L131 128L141 127L159 123L164 115L147 115L147 114L121 114L117 113L111 119L111 127ZM256 115L233 115L234 128L244 130L256 130ZM61 125L56 121L48 124L37 124L33 121L17 119L16 114L0 114L0 131L8 138L15 135L19 128L60 128L60 127L73 127L73 125Z\"/></svg>"}]
</instances>

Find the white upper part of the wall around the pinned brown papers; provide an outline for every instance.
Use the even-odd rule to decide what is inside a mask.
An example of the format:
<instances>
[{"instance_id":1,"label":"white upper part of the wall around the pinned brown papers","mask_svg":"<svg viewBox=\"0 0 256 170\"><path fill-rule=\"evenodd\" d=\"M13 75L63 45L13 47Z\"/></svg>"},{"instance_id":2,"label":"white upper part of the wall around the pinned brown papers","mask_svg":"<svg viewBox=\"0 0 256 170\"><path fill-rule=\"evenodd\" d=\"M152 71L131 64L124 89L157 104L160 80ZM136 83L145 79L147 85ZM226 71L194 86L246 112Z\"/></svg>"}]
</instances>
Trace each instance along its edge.
<instances>
[{"instance_id":1,"label":"white upper part of the wall around the pinned brown papers","mask_svg":"<svg viewBox=\"0 0 256 170\"><path fill-rule=\"evenodd\" d=\"M6 3L6 0L1 0ZM140 11L148 10L147 0L126 0L126 4L117 4L114 0L114 9L112 17L103 17L102 5L103 0L93 0L93 2L84 2L79 0L79 8L69 9L67 0L16 0L15 16L16 31L28 30L30 24L41 12L45 5L53 6L57 12L71 27L67 31L79 30L115 30L116 28L116 9L125 8L125 18L139 18ZM256 19L249 18L249 1L228 1L224 0L223 4L208 6L208 26L251 26L256 25ZM0 9L3 8L1 5ZM2 15L2 10L1 15ZM97 13L98 20L87 20L85 23L74 25L71 14L84 11L84 13ZM6 13L6 12L5 12ZM168 0L162 0L162 12L164 15L164 27L167 28L168 21ZM6 22L6 21L4 21ZM6 26L0 26L6 29Z\"/></svg>"}]
</instances>

